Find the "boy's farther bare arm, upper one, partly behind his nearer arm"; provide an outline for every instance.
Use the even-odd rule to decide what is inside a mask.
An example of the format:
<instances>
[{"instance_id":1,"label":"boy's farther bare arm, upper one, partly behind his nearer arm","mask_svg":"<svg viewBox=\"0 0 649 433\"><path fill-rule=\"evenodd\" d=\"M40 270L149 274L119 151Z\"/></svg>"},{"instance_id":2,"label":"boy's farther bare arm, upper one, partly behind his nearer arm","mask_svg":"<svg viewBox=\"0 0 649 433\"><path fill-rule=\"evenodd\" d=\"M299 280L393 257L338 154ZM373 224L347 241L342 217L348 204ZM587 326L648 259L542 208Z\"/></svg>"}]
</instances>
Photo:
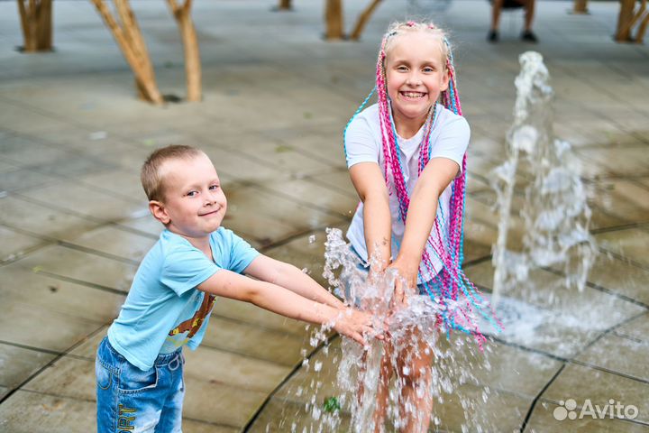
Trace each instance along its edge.
<instances>
[{"instance_id":1,"label":"boy's farther bare arm, upper one, partly behind his nearer arm","mask_svg":"<svg viewBox=\"0 0 649 433\"><path fill-rule=\"evenodd\" d=\"M258 280L277 284L306 299L334 307L334 309L344 308L341 300L329 293L328 290L324 290L314 279L292 264L279 262L279 260L271 259L266 255L260 255L248 265L245 273Z\"/></svg>"}]
</instances>

